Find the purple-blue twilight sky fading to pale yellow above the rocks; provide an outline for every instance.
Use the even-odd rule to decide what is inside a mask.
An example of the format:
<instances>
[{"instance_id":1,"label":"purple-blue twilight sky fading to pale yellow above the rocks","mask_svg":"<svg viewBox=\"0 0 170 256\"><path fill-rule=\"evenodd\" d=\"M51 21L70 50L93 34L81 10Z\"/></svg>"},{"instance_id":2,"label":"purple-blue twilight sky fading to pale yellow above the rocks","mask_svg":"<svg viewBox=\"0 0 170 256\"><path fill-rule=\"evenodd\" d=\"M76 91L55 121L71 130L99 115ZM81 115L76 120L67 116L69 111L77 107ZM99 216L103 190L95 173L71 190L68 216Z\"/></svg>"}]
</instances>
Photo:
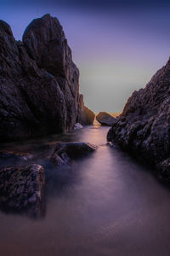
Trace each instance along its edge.
<instances>
[{"instance_id":1,"label":"purple-blue twilight sky fading to pale yellow above the rocks","mask_svg":"<svg viewBox=\"0 0 170 256\"><path fill-rule=\"evenodd\" d=\"M0 0L0 19L21 39L31 20L50 14L64 28L88 108L121 112L133 90L170 55L170 1Z\"/></svg>"}]
</instances>

